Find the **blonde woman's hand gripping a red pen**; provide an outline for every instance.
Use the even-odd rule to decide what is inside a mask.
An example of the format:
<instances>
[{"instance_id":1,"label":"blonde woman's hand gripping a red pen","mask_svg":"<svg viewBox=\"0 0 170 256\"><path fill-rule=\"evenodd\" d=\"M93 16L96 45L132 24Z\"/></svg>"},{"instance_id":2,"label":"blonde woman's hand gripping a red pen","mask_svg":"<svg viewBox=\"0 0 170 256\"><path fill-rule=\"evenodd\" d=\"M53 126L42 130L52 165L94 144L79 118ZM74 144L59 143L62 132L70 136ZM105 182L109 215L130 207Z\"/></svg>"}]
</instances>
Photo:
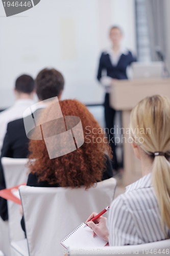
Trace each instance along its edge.
<instances>
[{"instance_id":1,"label":"blonde woman's hand gripping a red pen","mask_svg":"<svg viewBox=\"0 0 170 256\"><path fill-rule=\"evenodd\" d=\"M99 237L104 239L105 241L109 241L109 232L106 227L107 218L101 216L96 221L90 221L93 217L95 217L96 212L93 212L88 219L86 220L86 223L88 227L90 227L93 230L93 236L97 234Z\"/></svg>"}]
</instances>

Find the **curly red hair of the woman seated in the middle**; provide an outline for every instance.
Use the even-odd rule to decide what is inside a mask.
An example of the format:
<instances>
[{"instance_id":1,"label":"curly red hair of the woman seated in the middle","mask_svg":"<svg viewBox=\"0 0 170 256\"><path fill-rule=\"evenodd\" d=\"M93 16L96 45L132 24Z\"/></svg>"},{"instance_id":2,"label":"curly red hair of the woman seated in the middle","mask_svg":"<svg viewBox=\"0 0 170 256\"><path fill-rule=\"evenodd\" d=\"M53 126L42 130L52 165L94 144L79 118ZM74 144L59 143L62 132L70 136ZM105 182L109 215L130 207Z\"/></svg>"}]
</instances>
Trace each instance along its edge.
<instances>
[{"instance_id":1,"label":"curly red hair of the woman seated in the middle","mask_svg":"<svg viewBox=\"0 0 170 256\"><path fill-rule=\"evenodd\" d=\"M80 187L84 185L88 188L95 182L102 180L106 165L106 154L111 157L110 146L99 123L85 105L78 100L63 100L60 101L60 107L63 116L80 117L84 144L74 152L50 159L44 140L30 140L30 171L38 176L38 181L47 181L49 184L58 183L61 187ZM55 102L53 102L43 110L40 118L43 117L45 120L50 115L54 116L56 112ZM93 133L94 128L95 133ZM53 125L50 129L57 128ZM99 133L96 131L99 131ZM55 147L55 145L52 146ZM35 159L35 161L32 161L32 159Z\"/></svg>"}]
</instances>

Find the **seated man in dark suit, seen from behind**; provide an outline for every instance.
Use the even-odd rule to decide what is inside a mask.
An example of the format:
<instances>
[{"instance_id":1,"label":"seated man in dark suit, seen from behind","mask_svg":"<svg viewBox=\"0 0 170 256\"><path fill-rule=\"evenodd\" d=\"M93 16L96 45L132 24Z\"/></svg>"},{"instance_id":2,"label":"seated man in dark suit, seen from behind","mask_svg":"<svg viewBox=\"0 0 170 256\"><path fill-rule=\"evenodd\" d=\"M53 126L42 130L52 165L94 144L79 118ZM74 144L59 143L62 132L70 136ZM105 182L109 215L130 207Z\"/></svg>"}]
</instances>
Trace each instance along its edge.
<instances>
[{"instance_id":1,"label":"seated man in dark suit, seen from behind","mask_svg":"<svg viewBox=\"0 0 170 256\"><path fill-rule=\"evenodd\" d=\"M52 97L60 99L64 89L64 78L62 74L55 69L44 69L39 72L36 78L36 93L39 101ZM43 105L44 108L44 105ZM42 105L40 105L42 109ZM40 109L35 110L36 114ZM35 114L34 112L34 114ZM28 142L23 118L14 120L7 125L7 133L2 147L2 157L27 158ZM0 164L0 189L6 188L2 165ZM7 201L0 197L0 216L8 220Z\"/></svg>"}]
</instances>

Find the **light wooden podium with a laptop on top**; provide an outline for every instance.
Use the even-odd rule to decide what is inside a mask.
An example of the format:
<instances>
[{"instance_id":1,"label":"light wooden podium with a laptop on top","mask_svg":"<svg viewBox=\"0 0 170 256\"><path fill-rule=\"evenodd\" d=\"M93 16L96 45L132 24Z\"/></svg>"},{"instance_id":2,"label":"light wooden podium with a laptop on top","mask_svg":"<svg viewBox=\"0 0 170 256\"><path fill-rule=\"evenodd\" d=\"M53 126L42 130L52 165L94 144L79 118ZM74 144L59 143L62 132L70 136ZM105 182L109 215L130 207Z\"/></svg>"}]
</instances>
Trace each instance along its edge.
<instances>
[{"instance_id":1,"label":"light wooden podium with a laptop on top","mask_svg":"<svg viewBox=\"0 0 170 256\"><path fill-rule=\"evenodd\" d=\"M139 80L114 80L111 86L110 105L115 110L123 111L124 131L129 127L130 112L143 98L161 94L170 98L170 79L139 79ZM129 135L123 134L124 142L124 185L129 185L141 178L140 161L134 156Z\"/></svg>"}]
</instances>

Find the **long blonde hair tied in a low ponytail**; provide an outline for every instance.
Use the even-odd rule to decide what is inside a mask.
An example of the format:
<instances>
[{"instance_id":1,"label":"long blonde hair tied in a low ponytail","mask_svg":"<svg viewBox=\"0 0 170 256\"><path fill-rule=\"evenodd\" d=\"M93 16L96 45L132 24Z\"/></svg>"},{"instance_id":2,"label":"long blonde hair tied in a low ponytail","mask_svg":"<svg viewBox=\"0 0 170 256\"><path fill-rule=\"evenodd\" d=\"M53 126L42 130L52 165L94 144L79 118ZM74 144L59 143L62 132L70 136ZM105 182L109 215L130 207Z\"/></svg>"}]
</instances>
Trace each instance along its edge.
<instances>
[{"instance_id":1,"label":"long blonde hair tied in a low ponytail","mask_svg":"<svg viewBox=\"0 0 170 256\"><path fill-rule=\"evenodd\" d=\"M153 187L166 234L165 226L170 229L170 100L161 95L141 100L131 112L130 128L133 142L153 158ZM155 156L155 152L164 154Z\"/></svg>"}]
</instances>

